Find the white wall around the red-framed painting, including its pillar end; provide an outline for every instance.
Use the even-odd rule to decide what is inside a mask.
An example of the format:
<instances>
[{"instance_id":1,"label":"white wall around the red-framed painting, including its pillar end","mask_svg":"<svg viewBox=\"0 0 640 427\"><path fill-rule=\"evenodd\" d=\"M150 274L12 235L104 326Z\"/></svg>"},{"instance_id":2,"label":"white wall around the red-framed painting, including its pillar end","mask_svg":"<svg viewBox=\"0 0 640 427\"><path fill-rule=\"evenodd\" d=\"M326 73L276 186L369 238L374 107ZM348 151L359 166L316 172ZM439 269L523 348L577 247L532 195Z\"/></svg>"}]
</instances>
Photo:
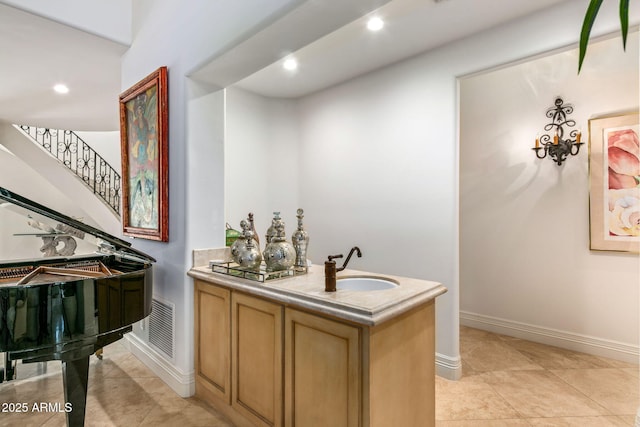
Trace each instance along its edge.
<instances>
[{"instance_id":1,"label":"white wall around the red-framed painting, including its pillar end","mask_svg":"<svg viewBox=\"0 0 640 427\"><path fill-rule=\"evenodd\" d=\"M186 275L191 251L224 244L223 128L214 128L221 125L216 122L221 98L208 97L215 88L187 76L292 2L192 0L188 7L172 0L133 2L133 43L122 60L122 90L163 65L169 79L169 242L137 239L134 247L158 260L154 296L175 304L173 360L146 346L144 323L134 329L141 347L135 351L156 372L164 369L159 373L168 373L163 378L181 395L193 392L193 281ZM200 112L214 115L201 116L199 123L187 117Z\"/></svg>"}]
</instances>

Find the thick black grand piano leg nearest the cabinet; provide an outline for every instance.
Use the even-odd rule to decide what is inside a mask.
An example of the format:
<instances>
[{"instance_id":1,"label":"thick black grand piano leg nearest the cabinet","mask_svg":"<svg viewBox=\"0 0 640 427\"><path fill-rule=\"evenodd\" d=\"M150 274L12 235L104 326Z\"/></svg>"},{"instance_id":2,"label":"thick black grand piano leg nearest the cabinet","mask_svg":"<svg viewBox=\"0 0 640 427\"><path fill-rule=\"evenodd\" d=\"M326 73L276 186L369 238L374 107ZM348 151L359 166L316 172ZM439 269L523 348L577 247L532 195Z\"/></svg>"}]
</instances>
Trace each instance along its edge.
<instances>
[{"instance_id":1,"label":"thick black grand piano leg nearest the cabinet","mask_svg":"<svg viewBox=\"0 0 640 427\"><path fill-rule=\"evenodd\" d=\"M89 378L89 356L62 362L64 379L64 400L71 404L67 412L68 427L84 426L87 403L87 380Z\"/></svg>"}]
</instances>

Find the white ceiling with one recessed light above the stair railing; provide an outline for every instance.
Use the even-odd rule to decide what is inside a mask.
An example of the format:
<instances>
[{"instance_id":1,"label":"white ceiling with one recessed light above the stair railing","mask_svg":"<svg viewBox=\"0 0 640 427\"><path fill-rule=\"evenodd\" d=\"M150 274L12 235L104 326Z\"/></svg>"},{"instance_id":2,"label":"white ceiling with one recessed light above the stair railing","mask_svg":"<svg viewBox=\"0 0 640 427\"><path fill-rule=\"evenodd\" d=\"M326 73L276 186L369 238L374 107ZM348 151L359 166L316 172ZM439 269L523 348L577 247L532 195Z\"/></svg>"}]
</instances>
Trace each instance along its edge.
<instances>
[{"instance_id":1,"label":"white ceiling with one recessed light above the stair railing","mask_svg":"<svg viewBox=\"0 0 640 427\"><path fill-rule=\"evenodd\" d=\"M0 120L117 130L127 46L0 4ZM65 83L69 93L56 94Z\"/></svg>"}]
</instances>

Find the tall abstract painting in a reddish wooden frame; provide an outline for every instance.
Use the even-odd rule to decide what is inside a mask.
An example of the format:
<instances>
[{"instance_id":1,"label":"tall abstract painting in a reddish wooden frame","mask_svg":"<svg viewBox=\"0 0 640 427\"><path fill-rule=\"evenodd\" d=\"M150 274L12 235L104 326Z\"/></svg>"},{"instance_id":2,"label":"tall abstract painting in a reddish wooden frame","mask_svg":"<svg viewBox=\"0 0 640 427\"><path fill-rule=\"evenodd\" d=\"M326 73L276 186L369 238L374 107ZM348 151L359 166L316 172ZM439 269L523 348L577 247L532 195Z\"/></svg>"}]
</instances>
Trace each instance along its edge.
<instances>
[{"instance_id":1,"label":"tall abstract painting in a reddish wooden frame","mask_svg":"<svg viewBox=\"0 0 640 427\"><path fill-rule=\"evenodd\" d=\"M169 240L167 67L120 95L122 229L126 236Z\"/></svg>"}]
</instances>

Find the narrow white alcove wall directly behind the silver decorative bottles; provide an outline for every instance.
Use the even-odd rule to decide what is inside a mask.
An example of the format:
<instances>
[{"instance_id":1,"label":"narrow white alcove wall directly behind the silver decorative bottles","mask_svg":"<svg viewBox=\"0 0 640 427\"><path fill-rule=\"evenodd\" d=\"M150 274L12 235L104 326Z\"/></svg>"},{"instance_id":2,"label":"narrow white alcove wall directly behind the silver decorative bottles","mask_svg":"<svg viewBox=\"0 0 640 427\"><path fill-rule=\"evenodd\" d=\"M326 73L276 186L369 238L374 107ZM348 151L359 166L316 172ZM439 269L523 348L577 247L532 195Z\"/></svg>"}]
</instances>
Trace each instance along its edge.
<instances>
[{"instance_id":1,"label":"narrow white alcove wall directly behind the silver decorative bottles","mask_svg":"<svg viewBox=\"0 0 640 427\"><path fill-rule=\"evenodd\" d=\"M281 212L285 232L296 229L301 191L296 101L266 98L238 88L226 90L225 218L236 230L253 212L264 234L273 212ZM307 215L311 215L307 211Z\"/></svg>"}]
</instances>

